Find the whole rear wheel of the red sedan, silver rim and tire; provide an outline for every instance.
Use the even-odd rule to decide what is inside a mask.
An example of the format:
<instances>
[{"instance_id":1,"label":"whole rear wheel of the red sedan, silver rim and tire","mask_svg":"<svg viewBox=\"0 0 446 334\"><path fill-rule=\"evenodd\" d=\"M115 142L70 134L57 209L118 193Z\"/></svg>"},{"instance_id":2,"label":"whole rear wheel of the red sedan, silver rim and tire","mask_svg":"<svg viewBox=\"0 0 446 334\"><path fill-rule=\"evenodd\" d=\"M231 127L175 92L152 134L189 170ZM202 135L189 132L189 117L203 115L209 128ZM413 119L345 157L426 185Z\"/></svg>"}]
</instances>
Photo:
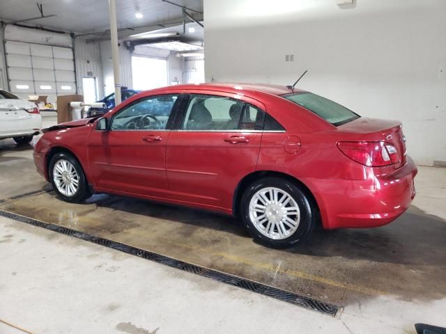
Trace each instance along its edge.
<instances>
[{"instance_id":1,"label":"whole rear wheel of the red sedan, silver rim and tire","mask_svg":"<svg viewBox=\"0 0 446 334\"><path fill-rule=\"evenodd\" d=\"M245 191L241 217L256 241L272 248L288 248L309 237L316 226L316 205L298 184L264 177Z\"/></svg>"}]
</instances>

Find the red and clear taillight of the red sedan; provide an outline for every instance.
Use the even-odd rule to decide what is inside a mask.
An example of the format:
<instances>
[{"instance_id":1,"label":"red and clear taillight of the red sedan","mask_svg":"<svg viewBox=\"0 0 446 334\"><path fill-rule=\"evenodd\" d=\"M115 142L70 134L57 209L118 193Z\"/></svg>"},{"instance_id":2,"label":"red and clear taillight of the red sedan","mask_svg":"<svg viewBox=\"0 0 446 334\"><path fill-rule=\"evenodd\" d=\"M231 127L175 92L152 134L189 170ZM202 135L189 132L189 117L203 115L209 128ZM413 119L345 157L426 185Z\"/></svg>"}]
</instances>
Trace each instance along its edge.
<instances>
[{"instance_id":1,"label":"red and clear taillight of the red sedan","mask_svg":"<svg viewBox=\"0 0 446 334\"><path fill-rule=\"evenodd\" d=\"M383 167L401 161L397 148L383 141L340 141L337 147L347 157L364 166Z\"/></svg>"}]
</instances>

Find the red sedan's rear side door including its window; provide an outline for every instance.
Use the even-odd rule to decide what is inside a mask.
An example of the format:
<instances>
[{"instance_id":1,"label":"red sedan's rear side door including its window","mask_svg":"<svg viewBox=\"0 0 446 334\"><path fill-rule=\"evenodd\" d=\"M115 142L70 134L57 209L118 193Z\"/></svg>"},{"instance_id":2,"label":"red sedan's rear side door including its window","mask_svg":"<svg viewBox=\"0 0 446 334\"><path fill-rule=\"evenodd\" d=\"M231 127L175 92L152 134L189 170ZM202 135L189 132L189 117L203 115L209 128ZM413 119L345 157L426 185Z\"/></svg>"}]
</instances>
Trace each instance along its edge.
<instances>
[{"instance_id":1,"label":"red sedan's rear side door including its window","mask_svg":"<svg viewBox=\"0 0 446 334\"><path fill-rule=\"evenodd\" d=\"M247 97L191 91L167 142L171 198L230 209L236 185L256 169L264 106Z\"/></svg>"}]
</instances>

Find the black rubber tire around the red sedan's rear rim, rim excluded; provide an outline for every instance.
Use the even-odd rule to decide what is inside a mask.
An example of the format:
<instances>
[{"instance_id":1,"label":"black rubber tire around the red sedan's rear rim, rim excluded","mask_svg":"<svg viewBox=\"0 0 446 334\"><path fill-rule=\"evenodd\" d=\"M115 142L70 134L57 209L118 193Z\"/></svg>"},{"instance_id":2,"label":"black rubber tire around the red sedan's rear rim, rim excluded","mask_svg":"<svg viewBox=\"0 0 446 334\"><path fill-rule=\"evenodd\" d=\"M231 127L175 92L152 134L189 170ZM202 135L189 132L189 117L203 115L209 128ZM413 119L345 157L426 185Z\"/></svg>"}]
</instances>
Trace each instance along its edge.
<instances>
[{"instance_id":1,"label":"black rubber tire around the red sedan's rear rim, rim excluded","mask_svg":"<svg viewBox=\"0 0 446 334\"><path fill-rule=\"evenodd\" d=\"M251 221L249 215L249 203L251 202L253 196L257 193L257 191L268 187L286 191L286 193L293 198L299 207L300 220L298 228L285 239L272 239L261 233ZM242 218L243 225L245 225L245 228L248 230L249 234L251 234L254 240L259 242L259 244L263 244L264 246L271 248L289 248L296 246L307 239L318 224L317 212L318 209L314 203L314 200L312 200L311 196L307 194L305 189L302 189L302 187L295 182L291 182L280 177L263 177L262 179L253 182L247 187L245 193L243 193L240 203L240 217Z\"/></svg>"}]
</instances>

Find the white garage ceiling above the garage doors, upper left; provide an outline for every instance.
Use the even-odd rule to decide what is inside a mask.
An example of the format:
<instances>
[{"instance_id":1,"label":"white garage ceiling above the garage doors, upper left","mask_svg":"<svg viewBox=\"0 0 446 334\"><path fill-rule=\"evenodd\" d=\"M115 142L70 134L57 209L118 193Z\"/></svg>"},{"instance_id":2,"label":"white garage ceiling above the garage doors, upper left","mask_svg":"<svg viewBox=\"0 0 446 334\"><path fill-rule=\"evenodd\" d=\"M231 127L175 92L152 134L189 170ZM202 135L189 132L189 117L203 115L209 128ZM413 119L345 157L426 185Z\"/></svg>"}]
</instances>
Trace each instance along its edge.
<instances>
[{"instance_id":1,"label":"white garage ceiling above the garage doors, upper left","mask_svg":"<svg viewBox=\"0 0 446 334\"><path fill-rule=\"evenodd\" d=\"M40 0L44 15L57 15L26 22L38 26L52 27L79 33L105 31L109 29L109 12L107 0ZM173 0L192 10L203 12L203 0ZM116 0L118 29L134 26L150 26L178 22L182 19L182 8L162 0ZM134 14L139 11L144 17L137 19ZM189 11L194 16L202 14ZM38 17L40 12L35 1L1 0L0 18L16 21ZM130 33L131 34L131 33Z\"/></svg>"}]
</instances>

